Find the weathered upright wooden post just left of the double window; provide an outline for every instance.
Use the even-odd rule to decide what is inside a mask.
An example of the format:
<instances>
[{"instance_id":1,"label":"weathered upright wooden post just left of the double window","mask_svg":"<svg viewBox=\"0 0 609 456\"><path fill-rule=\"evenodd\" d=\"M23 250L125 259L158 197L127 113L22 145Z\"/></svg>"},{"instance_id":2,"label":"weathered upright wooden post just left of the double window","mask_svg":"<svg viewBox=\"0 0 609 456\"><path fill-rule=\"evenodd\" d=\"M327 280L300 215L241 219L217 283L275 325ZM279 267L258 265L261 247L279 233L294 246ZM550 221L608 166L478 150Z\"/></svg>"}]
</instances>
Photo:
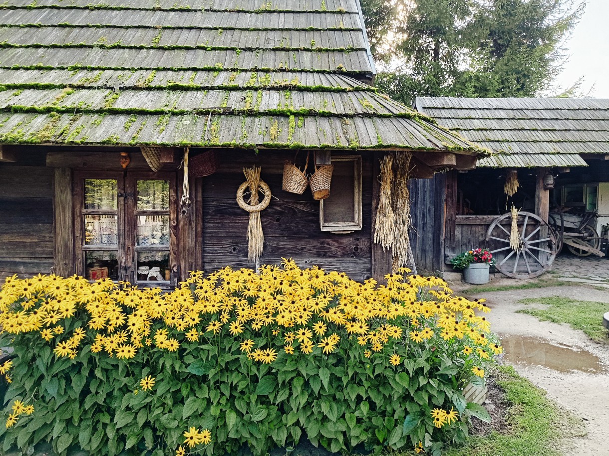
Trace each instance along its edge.
<instances>
[{"instance_id":1,"label":"weathered upright wooden post just left of the double window","mask_svg":"<svg viewBox=\"0 0 609 456\"><path fill-rule=\"evenodd\" d=\"M72 221L72 170L55 168L55 274L68 277L74 274L74 223Z\"/></svg>"}]
</instances>

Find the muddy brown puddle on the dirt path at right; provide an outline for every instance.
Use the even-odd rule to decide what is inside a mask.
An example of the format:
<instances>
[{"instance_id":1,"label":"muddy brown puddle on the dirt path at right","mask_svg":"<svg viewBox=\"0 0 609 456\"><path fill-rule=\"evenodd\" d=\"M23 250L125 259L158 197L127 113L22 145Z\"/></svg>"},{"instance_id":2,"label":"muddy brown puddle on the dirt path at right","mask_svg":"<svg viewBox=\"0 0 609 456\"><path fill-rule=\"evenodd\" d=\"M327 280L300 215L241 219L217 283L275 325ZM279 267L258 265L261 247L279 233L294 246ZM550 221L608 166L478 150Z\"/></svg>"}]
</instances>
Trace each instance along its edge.
<instances>
[{"instance_id":1,"label":"muddy brown puddle on the dirt path at right","mask_svg":"<svg viewBox=\"0 0 609 456\"><path fill-rule=\"evenodd\" d=\"M588 351L552 345L536 337L513 335L502 339L501 345L505 359L517 364L543 366L559 372L599 373L603 370L600 359Z\"/></svg>"}]
</instances>

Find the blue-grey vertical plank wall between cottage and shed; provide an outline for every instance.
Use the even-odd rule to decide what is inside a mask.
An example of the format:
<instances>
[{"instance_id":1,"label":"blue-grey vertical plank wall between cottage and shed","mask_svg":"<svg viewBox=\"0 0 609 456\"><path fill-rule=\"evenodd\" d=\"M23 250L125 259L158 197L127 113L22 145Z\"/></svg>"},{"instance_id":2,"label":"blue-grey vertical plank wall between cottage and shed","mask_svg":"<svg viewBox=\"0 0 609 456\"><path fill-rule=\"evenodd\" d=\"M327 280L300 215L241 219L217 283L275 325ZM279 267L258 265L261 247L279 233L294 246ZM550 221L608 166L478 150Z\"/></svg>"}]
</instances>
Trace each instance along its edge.
<instances>
[{"instance_id":1,"label":"blue-grey vertical plank wall between cottage and shed","mask_svg":"<svg viewBox=\"0 0 609 456\"><path fill-rule=\"evenodd\" d=\"M446 174L432 179L413 179L409 185L410 246L417 268L444 271Z\"/></svg>"}]
</instances>

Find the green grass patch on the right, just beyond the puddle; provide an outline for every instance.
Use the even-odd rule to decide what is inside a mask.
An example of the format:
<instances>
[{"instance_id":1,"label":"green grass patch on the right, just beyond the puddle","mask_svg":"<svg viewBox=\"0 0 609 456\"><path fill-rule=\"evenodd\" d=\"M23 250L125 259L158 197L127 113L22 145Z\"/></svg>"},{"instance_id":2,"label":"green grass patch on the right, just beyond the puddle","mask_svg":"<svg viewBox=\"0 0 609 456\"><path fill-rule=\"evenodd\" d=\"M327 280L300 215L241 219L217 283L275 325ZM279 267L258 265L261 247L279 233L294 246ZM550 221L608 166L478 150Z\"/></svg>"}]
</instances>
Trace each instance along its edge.
<instances>
[{"instance_id":1,"label":"green grass patch on the right, just beyond the puddle","mask_svg":"<svg viewBox=\"0 0 609 456\"><path fill-rule=\"evenodd\" d=\"M558 296L548 298L529 298L519 302L524 304L543 304L547 309L521 309L521 314L529 314L543 321L568 323L572 328L583 331L586 336L597 342L606 342L608 332L602 326L603 314L609 311L604 302L580 301Z\"/></svg>"}]
</instances>

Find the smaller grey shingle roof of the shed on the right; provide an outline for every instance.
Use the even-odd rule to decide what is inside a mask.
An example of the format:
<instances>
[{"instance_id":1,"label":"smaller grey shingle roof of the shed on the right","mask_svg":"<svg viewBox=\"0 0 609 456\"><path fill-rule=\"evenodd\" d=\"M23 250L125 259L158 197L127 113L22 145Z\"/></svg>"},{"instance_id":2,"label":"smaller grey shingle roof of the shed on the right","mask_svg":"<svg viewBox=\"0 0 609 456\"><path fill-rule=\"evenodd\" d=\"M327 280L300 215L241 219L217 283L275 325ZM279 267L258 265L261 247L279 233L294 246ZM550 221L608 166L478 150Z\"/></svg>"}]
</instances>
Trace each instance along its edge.
<instances>
[{"instance_id":1,"label":"smaller grey shingle roof of the shed on the right","mask_svg":"<svg viewBox=\"0 0 609 456\"><path fill-rule=\"evenodd\" d=\"M417 111L494 152L482 167L585 166L609 154L609 100L418 97Z\"/></svg>"}]
</instances>

